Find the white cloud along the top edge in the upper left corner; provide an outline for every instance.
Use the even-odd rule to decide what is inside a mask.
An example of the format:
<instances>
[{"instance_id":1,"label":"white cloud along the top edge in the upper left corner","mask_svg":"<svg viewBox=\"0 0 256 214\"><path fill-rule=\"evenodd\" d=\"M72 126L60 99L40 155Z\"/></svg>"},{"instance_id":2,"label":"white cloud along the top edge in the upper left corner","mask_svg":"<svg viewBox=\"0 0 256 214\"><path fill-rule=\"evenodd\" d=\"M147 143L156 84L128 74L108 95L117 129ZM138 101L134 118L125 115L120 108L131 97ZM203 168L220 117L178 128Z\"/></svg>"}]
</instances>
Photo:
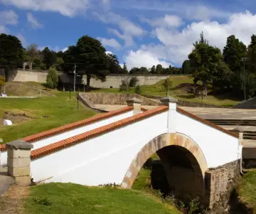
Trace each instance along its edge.
<instances>
[{"instance_id":1,"label":"white cloud along the top edge in the upper left corner","mask_svg":"<svg viewBox=\"0 0 256 214\"><path fill-rule=\"evenodd\" d=\"M88 6L88 0L0 0L0 2L19 9L59 12L63 16L75 16L84 12Z\"/></svg>"}]
</instances>

